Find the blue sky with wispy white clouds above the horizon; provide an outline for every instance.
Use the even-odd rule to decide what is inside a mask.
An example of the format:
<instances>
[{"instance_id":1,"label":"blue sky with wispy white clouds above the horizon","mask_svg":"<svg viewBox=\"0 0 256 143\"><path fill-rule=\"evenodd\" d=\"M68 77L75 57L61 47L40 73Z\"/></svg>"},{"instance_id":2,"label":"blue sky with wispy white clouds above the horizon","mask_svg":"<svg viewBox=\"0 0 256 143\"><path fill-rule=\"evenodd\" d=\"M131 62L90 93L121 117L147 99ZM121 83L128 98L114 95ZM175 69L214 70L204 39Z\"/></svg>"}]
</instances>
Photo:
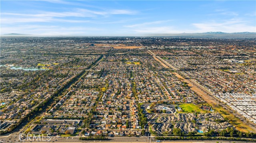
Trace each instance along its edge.
<instances>
[{"instance_id":1,"label":"blue sky with wispy white clouds above the horizon","mask_svg":"<svg viewBox=\"0 0 256 143\"><path fill-rule=\"evenodd\" d=\"M1 0L1 34L256 32L256 1Z\"/></svg>"}]
</instances>

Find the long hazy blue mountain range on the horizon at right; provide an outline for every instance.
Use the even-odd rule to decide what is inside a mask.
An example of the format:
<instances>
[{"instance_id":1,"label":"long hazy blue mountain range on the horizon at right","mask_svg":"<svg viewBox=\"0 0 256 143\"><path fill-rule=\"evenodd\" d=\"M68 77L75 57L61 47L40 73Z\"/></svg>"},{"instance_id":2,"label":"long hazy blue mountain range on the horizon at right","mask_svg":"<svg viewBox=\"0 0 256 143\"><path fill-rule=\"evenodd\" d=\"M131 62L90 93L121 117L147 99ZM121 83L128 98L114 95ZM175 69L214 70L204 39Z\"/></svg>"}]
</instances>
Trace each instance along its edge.
<instances>
[{"instance_id":1,"label":"long hazy blue mountain range on the horizon at right","mask_svg":"<svg viewBox=\"0 0 256 143\"><path fill-rule=\"evenodd\" d=\"M154 36L256 38L256 32L236 32L236 33L225 33L225 32L179 33L179 34L154 34Z\"/></svg>"}]
</instances>

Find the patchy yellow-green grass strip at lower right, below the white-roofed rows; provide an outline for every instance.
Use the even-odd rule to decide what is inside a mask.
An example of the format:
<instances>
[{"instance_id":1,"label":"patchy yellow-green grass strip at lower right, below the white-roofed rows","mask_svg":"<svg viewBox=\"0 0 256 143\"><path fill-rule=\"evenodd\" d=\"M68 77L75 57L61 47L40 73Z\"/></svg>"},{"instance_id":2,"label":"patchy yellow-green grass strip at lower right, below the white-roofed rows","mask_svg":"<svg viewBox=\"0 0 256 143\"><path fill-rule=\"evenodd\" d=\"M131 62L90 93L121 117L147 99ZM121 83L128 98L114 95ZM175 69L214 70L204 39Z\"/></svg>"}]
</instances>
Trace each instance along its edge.
<instances>
[{"instance_id":1,"label":"patchy yellow-green grass strip at lower right, below the white-roofed rows","mask_svg":"<svg viewBox=\"0 0 256 143\"><path fill-rule=\"evenodd\" d=\"M246 125L243 121L240 119L236 118L233 114L231 114L228 110L223 109L222 107L216 107L214 108L216 112L219 112L224 118L228 118L230 121L232 120L232 125L236 127L238 131L243 131L243 132L256 132L254 131L250 126Z\"/></svg>"}]
</instances>

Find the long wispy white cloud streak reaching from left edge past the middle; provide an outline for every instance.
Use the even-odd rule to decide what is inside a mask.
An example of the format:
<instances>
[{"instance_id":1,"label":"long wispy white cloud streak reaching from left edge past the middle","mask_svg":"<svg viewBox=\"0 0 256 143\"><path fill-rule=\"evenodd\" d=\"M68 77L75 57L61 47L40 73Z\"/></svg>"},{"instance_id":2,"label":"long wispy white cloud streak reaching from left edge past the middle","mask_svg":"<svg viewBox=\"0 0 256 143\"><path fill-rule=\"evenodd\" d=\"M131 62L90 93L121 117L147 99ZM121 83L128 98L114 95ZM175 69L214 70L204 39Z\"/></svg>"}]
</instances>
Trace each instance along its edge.
<instances>
[{"instance_id":1,"label":"long wispy white cloud streak reaching from left edge past the middle","mask_svg":"<svg viewBox=\"0 0 256 143\"><path fill-rule=\"evenodd\" d=\"M89 20L66 20L57 18L95 18L97 16L110 16L110 15L131 15L136 14L137 11L133 10L108 10L108 11L95 11L77 8L71 12L38 12L38 14L22 14L22 13L1 13L2 24L14 24L14 23L28 23L28 22L91 22Z\"/></svg>"}]
</instances>

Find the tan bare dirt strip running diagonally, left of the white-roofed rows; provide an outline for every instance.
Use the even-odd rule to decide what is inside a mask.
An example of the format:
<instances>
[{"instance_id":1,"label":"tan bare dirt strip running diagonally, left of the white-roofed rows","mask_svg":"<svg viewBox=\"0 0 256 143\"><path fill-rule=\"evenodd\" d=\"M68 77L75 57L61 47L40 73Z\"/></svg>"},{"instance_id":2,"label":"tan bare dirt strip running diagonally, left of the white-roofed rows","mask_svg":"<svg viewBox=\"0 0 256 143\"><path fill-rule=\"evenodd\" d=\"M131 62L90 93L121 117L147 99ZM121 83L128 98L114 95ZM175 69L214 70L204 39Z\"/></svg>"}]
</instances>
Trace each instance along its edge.
<instances>
[{"instance_id":1,"label":"tan bare dirt strip running diagonally, left of the white-roofed rows","mask_svg":"<svg viewBox=\"0 0 256 143\"><path fill-rule=\"evenodd\" d=\"M200 95L204 101L206 101L208 104L212 105L212 102L214 105L217 105L215 100L212 100L212 97L208 96L206 93L204 93L200 88L194 86L193 84L191 84L191 82L189 80L184 79L182 76L180 76L180 74L173 72L173 74L175 76L177 76L178 78L181 78L184 82L188 83L188 86L194 91L196 92L198 95Z\"/></svg>"}]
</instances>

